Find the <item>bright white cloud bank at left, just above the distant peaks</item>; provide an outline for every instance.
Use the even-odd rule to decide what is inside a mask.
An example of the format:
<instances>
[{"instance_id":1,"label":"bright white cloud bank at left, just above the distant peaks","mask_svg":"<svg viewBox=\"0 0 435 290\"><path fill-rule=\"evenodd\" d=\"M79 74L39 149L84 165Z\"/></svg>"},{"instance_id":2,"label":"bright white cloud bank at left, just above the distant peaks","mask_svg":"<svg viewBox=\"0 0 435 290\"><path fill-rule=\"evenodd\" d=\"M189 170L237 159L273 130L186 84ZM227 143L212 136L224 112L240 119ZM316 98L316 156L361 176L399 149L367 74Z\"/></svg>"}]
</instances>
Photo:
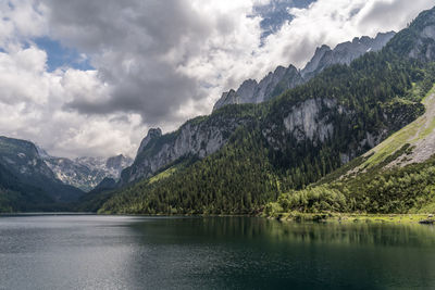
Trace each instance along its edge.
<instances>
[{"instance_id":1,"label":"bright white cloud bank at left, just above the distant peaks","mask_svg":"<svg viewBox=\"0 0 435 290\"><path fill-rule=\"evenodd\" d=\"M132 154L145 134L140 116L63 110L83 96L102 100L105 86L96 71L47 73L46 58L36 47L0 53L1 135L36 141L61 156Z\"/></svg>"}]
</instances>

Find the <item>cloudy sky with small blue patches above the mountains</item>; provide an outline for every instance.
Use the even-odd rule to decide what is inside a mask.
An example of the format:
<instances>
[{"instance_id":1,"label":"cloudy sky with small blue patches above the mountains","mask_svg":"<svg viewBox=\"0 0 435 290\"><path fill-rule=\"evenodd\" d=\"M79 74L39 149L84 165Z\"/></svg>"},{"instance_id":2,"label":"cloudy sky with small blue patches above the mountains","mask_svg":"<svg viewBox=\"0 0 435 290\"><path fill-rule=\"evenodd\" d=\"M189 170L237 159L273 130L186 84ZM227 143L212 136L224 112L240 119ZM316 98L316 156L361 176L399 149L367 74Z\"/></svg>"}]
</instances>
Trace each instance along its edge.
<instances>
[{"instance_id":1,"label":"cloudy sky with small blue patches above the mountains","mask_svg":"<svg viewBox=\"0 0 435 290\"><path fill-rule=\"evenodd\" d=\"M315 48L400 30L433 0L0 0L0 135L135 156L149 128Z\"/></svg>"}]
</instances>

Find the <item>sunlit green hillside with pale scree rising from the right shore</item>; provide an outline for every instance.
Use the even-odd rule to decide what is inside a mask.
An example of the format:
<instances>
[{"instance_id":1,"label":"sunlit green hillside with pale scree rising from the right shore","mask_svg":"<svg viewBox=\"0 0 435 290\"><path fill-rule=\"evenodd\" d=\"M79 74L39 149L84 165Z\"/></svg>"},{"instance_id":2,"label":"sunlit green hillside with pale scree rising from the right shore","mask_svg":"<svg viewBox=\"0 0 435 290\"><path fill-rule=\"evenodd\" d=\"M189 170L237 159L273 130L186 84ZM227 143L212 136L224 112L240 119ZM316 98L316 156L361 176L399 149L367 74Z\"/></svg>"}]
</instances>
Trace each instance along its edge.
<instances>
[{"instance_id":1,"label":"sunlit green hillside with pale scree rising from the right shore","mask_svg":"<svg viewBox=\"0 0 435 290\"><path fill-rule=\"evenodd\" d=\"M266 214L434 212L435 87L422 102L418 119L318 184L283 193Z\"/></svg>"}]
</instances>

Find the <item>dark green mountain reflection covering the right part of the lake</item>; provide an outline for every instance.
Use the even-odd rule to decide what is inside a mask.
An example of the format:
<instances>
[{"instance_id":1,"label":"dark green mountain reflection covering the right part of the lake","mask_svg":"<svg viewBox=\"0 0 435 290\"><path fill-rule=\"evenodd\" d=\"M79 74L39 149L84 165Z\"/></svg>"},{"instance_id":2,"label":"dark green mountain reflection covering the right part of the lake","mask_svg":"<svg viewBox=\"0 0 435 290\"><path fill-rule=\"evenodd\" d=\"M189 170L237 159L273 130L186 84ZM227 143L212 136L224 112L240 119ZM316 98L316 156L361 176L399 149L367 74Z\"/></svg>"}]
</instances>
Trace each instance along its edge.
<instances>
[{"instance_id":1,"label":"dark green mountain reflection covering the right part of the lake","mask_svg":"<svg viewBox=\"0 0 435 290\"><path fill-rule=\"evenodd\" d=\"M192 281L197 289L435 285L433 227L228 217L163 219L138 223L132 229L142 234L137 236L139 242L160 250L139 259L134 267L146 272L151 265L144 261L157 262L158 276L176 280L182 288L191 287Z\"/></svg>"}]
</instances>

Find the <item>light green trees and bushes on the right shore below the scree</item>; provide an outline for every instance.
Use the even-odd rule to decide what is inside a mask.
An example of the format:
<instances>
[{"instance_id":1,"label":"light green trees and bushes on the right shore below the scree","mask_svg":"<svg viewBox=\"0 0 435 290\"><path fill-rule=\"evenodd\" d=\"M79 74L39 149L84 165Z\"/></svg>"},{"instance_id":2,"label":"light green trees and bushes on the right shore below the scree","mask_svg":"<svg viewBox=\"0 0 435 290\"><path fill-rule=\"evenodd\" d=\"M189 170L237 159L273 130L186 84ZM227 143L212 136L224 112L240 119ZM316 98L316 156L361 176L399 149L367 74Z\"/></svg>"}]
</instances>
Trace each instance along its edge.
<instances>
[{"instance_id":1,"label":"light green trees and bushes on the right shore below the scree","mask_svg":"<svg viewBox=\"0 0 435 290\"><path fill-rule=\"evenodd\" d=\"M403 168L371 169L355 178L279 196L268 215L288 212L415 213L435 210L435 157Z\"/></svg>"}]
</instances>

